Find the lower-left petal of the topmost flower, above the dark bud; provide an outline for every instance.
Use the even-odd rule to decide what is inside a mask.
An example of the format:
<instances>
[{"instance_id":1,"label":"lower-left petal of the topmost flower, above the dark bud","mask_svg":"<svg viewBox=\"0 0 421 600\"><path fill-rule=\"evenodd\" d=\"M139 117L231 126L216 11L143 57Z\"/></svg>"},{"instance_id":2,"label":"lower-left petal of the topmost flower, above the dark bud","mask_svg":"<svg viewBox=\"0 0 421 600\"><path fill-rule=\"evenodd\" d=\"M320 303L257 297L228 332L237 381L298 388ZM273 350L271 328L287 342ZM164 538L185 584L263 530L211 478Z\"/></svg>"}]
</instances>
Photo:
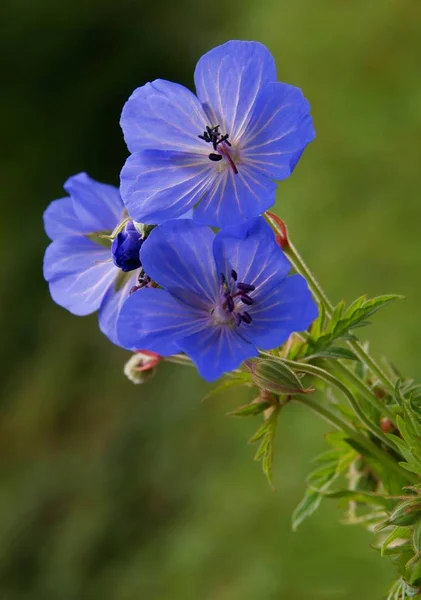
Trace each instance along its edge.
<instances>
[{"instance_id":1,"label":"lower-left petal of the topmost flower, above the dark bud","mask_svg":"<svg viewBox=\"0 0 421 600\"><path fill-rule=\"evenodd\" d=\"M144 150L127 159L121 195L133 219L157 224L193 208L214 178L207 155Z\"/></svg>"}]
</instances>

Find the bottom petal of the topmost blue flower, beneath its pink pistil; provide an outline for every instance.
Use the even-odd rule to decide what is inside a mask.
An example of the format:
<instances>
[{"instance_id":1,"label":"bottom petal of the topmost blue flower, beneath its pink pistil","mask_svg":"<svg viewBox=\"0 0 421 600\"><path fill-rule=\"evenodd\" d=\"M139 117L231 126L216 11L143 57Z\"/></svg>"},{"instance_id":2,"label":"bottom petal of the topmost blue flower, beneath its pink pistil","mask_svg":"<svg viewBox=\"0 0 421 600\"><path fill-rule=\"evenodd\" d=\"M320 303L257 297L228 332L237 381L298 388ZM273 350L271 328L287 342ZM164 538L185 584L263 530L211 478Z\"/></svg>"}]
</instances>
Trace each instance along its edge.
<instances>
[{"instance_id":1,"label":"bottom petal of the topmost blue flower, beneath its pink pistil","mask_svg":"<svg viewBox=\"0 0 421 600\"><path fill-rule=\"evenodd\" d=\"M213 227L242 223L270 208L275 193L276 184L257 169L239 164L235 174L227 166L209 186L193 219Z\"/></svg>"}]
</instances>

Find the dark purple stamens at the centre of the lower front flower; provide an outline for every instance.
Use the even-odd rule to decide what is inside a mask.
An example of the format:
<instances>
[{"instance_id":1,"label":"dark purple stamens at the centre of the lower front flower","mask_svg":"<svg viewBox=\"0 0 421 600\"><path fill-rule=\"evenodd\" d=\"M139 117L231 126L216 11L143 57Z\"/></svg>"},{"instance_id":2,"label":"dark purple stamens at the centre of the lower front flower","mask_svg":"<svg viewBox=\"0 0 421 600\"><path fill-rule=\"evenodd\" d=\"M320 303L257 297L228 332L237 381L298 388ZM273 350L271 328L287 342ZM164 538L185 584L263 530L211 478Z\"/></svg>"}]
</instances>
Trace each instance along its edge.
<instances>
[{"instance_id":1,"label":"dark purple stamens at the centre of the lower front flower","mask_svg":"<svg viewBox=\"0 0 421 600\"><path fill-rule=\"evenodd\" d=\"M212 311L212 318L215 325L229 325L231 327L239 326L241 323L250 325L251 315L246 310L241 310L242 305L251 306L254 304L250 292L256 288L249 283L237 281L238 275L234 269L231 271L229 280L221 273L221 293L217 306Z\"/></svg>"}]
</instances>

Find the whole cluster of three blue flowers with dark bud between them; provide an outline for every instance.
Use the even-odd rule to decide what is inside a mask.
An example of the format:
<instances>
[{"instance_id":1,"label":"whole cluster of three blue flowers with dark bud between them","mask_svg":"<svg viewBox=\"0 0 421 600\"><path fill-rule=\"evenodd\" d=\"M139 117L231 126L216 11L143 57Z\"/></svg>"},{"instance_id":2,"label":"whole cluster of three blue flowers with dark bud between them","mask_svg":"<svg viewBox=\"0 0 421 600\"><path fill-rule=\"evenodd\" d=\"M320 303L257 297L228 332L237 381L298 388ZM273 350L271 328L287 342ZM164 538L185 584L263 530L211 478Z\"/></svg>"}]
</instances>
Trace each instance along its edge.
<instances>
[{"instance_id":1,"label":"whole cluster of three blue flowers with dark bud between them","mask_svg":"<svg viewBox=\"0 0 421 600\"><path fill-rule=\"evenodd\" d=\"M136 89L121 126L120 189L86 174L44 214L51 296L125 348L184 353L214 380L309 327L317 308L262 215L314 138L301 90L257 42L198 62L196 95ZM218 233L210 228L219 228Z\"/></svg>"}]
</instances>

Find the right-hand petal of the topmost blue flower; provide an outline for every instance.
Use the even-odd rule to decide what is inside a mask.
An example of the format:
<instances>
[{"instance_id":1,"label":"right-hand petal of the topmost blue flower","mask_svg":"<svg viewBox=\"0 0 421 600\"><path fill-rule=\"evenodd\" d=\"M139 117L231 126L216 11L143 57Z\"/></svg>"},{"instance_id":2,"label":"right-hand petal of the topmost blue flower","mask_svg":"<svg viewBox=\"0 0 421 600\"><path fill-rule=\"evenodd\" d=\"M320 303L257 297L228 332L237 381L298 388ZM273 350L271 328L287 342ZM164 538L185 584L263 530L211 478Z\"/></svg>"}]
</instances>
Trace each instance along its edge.
<instances>
[{"instance_id":1,"label":"right-hand petal of the topmost blue flower","mask_svg":"<svg viewBox=\"0 0 421 600\"><path fill-rule=\"evenodd\" d=\"M270 83L259 93L240 140L241 158L269 177L285 179L315 137L310 105L302 91Z\"/></svg>"}]
</instances>

